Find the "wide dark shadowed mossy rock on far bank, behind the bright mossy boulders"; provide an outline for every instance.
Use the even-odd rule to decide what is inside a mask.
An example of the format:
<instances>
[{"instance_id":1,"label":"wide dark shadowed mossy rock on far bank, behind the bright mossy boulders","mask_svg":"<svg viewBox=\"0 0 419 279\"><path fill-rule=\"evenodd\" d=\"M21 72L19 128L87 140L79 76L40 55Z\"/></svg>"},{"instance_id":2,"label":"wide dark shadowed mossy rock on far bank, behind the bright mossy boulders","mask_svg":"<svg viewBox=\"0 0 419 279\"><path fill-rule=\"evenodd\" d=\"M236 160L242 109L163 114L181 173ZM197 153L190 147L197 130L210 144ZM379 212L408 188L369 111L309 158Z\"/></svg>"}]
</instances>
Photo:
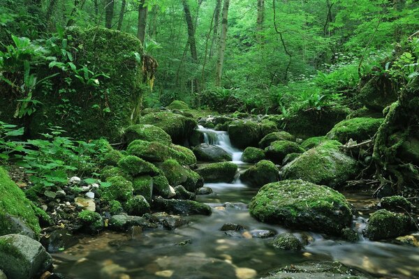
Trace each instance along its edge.
<instances>
[{"instance_id":1,"label":"wide dark shadowed mossy rock on far bank, behind the bright mossy boulders","mask_svg":"<svg viewBox=\"0 0 419 279\"><path fill-rule=\"evenodd\" d=\"M350 112L346 107L300 110L295 115L284 118L284 130L302 139L326 135L336 123L346 119Z\"/></svg>"}]
</instances>

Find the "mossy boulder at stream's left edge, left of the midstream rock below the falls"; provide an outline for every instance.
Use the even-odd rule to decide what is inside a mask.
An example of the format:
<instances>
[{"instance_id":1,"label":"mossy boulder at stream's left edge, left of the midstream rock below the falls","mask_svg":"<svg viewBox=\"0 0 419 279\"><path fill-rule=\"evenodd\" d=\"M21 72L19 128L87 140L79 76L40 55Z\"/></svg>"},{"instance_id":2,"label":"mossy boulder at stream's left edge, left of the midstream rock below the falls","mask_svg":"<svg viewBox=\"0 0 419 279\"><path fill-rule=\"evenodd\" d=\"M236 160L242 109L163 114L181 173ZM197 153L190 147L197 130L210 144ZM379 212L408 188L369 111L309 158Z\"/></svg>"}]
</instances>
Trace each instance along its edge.
<instances>
[{"instance_id":1,"label":"mossy boulder at stream's left edge, left of the midstream rock below the falls","mask_svg":"<svg viewBox=\"0 0 419 279\"><path fill-rule=\"evenodd\" d=\"M203 186L203 178L189 167L180 165L176 160L170 159L157 165L168 179L170 186L184 186L186 190L195 192Z\"/></svg>"}]
</instances>

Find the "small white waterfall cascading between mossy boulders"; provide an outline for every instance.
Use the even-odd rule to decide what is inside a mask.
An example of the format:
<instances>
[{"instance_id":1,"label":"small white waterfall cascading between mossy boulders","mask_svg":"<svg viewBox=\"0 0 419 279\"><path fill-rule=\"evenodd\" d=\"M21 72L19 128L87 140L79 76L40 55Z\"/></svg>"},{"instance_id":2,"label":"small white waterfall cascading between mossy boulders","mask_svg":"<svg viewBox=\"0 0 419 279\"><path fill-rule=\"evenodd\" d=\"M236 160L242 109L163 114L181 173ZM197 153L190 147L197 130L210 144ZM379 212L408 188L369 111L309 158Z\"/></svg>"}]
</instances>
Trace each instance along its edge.
<instances>
[{"instance_id":1,"label":"small white waterfall cascading between mossy boulders","mask_svg":"<svg viewBox=\"0 0 419 279\"><path fill-rule=\"evenodd\" d=\"M205 144L212 144L221 147L233 157L234 163L242 163L243 152L240 151L240 149L236 149L231 144L230 137L228 137L227 132L208 129L203 126L198 126L198 131L204 134Z\"/></svg>"}]
</instances>

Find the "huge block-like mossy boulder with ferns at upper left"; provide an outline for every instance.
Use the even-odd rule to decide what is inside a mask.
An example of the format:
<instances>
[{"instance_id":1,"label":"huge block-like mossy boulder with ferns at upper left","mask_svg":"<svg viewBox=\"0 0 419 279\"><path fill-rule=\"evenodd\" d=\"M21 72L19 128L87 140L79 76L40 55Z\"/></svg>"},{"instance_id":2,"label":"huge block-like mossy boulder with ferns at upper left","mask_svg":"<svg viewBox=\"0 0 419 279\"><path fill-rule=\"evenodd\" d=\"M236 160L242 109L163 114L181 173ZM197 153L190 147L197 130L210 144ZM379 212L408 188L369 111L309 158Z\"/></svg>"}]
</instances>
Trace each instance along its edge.
<instances>
[{"instance_id":1,"label":"huge block-like mossy boulder with ferns at upper left","mask_svg":"<svg viewBox=\"0 0 419 279\"><path fill-rule=\"evenodd\" d=\"M50 126L59 126L64 127L66 135L78 140L106 137L111 142L119 142L123 128L134 124L140 116L143 93L142 65L137 59L142 54L140 40L128 33L99 27L71 27L66 29L66 38L69 38L67 50L73 53L75 67L80 73L87 67L98 77L86 74L90 80L81 82L70 70L53 77L50 88L36 86L32 99L41 104L20 124L34 137L47 133ZM57 73L56 69L45 67L43 73L52 75ZM43 77L38 76L38 80ZM68 78L71 84L67 83ZM14 111L17 100L26 98L14 96L13 91L4 95L2 92L0 96L0 103L9 104L6 107L12 110L1 113L6 122L20 121L13 119Z\"/></svg>"}]
</instances>

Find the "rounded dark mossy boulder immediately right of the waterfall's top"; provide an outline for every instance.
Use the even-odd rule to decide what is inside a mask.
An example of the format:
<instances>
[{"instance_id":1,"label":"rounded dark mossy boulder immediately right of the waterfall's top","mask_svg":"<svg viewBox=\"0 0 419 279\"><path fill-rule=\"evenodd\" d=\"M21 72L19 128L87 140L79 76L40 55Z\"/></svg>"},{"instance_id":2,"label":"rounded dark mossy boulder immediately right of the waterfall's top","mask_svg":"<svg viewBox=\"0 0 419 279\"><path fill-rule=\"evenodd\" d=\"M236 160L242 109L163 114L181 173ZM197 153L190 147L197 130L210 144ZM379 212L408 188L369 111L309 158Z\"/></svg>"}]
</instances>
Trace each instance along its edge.
<instances>
[{"instance_id":1,"label":"rounded dark mossy boulder immediately right of the waterfall's top","mask_svg":"<svg viewBox=\"0 0 419 279\"><path fill-rule=\"evenodd\" d=\"M259 124L251 120L236 120L228 126L231 143L241 149L258 146L260 140Z\"/></svg>"}]
</instances>

